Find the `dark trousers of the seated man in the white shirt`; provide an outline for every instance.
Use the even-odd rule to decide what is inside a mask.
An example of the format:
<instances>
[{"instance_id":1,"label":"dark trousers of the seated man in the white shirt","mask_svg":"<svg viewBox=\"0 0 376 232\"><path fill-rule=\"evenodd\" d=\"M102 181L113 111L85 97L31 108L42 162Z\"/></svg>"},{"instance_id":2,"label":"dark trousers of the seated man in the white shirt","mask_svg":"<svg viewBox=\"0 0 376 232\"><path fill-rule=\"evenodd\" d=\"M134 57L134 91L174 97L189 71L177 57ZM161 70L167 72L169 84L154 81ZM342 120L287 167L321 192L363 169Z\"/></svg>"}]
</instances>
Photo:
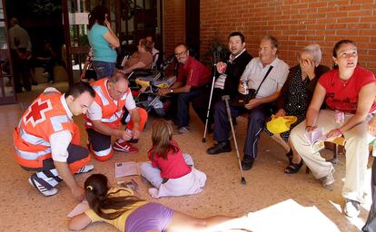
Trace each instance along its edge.
<instances>
[{"instance_id":1,"label":"dark trousers of the seated man in the white shirt","mask_svg":"<svg viewBox=\"0 0 376 232\"><path fill-rule=\"evenodd\" d=\"M226 106L224 102L217 102L214 107L214 139L218 142L229 139L231 132L230 122L228 120ZM250 111L244 109L234 108L231 106L230 110L233 120L241 113L248 112L247 136L244 141L244 156L252 158L257 157L257 144L260 140L260 134L265 124L265 118L269 114L266 105L259 105Z\"/></svg>"}]
</instances>

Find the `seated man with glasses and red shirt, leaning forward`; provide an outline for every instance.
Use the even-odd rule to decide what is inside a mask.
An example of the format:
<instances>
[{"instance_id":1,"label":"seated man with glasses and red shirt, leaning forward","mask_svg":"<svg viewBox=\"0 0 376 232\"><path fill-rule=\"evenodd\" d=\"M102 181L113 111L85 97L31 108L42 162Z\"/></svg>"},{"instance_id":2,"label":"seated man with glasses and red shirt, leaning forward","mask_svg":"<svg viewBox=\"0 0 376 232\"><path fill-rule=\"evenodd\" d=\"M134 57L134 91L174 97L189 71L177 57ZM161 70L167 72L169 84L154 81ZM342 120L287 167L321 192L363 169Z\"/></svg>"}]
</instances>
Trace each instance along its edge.
<instances>
[{"instance_id":1,"label":"seated man with glasses and red shirt, leaning forward","mask_svg":"<svg viewBox=\"0 0 376 232\"><path fill-rule=\"evenodd\" d=\"M177 95L177 133L183 134L189 131L189 103L205 91L206 85L211 81L212 73L210 68L189 56L188 47L184 43L176 44L174 54L180 63L177 80L170 88L160 89L158 94Z\"/></svg>"}]
</instances>

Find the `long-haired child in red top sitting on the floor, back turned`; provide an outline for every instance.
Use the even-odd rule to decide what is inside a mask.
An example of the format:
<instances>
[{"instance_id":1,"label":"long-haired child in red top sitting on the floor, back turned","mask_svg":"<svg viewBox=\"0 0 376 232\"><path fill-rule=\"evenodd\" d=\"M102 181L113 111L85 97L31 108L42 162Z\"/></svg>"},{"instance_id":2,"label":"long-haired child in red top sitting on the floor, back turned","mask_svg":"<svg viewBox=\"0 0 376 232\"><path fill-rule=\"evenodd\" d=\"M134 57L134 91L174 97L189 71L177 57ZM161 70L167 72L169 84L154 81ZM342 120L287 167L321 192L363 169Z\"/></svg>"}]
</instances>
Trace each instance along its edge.
<instances>
[{"instance_id":1,"label":"long-haired child in red top sitting on the floor, back turned","mask_svg":"<svg viewBox=\"0 0 376 232\"><path fill-rule=\"evenodd\" d=\"M192 157L179 149L168 121L160 119L153 122L152 141L153 148L148 151L151 162L143 162L140 170L141 175L157 188L149 189L153 198L203 191L206 175L194 169Z\"/></svg>"}]
</instances>

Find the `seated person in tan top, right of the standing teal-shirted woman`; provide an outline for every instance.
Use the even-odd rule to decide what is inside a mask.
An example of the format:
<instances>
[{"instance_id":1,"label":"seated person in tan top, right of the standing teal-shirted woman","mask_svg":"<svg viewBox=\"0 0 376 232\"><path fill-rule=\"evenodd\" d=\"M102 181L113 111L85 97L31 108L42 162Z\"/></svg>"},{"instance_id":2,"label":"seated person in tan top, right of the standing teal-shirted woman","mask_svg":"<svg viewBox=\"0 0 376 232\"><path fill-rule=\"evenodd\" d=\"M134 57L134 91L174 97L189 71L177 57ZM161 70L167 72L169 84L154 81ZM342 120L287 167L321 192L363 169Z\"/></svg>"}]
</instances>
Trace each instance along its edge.
<instances>
[{"instance_id":1,"label":"seated person in tan top, right of the standing teal-shirted woman","mask_svg":"<svg viewBox=\"0 0 376 232\"><path fill-rule=\"evenodd\" d=\"M141 39L137 45L137 52L125 63L124 73L131 73L134 69L150 69L153 65L153 43Z\"/></svg>"}]
</instances>

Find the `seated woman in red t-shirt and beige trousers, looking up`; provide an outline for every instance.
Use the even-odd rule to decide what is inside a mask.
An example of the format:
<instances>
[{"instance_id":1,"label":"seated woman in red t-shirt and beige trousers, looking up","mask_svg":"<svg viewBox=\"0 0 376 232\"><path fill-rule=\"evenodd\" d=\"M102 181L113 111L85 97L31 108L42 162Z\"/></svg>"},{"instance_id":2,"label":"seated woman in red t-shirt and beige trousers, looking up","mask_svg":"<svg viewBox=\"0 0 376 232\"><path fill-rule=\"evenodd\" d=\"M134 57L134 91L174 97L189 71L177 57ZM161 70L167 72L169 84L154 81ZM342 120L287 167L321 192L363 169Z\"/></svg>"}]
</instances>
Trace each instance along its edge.
<instances>
[{"instance_id":1,"label":"seated woman in red t-shirt and beige trousers, looking up","mask_svg":"<svg viewBox=\"0 0 376 232\"><path fill-rule=\"evenodd\" d=\"M364 174L368 162L367 122L376 110L376 79L373 73L358 66L354 42L341 40L333 48L335 69L325 73L317 83L306 120L292 130L293 147L324 188L334 183L334 168L305 139L306 131L321 127L327 140L344 136L346 140L346 177L342 189L344 213L357 217L363 202ZM327 110L320 110L322 102Z\"/></svg>"}]
</instances>

